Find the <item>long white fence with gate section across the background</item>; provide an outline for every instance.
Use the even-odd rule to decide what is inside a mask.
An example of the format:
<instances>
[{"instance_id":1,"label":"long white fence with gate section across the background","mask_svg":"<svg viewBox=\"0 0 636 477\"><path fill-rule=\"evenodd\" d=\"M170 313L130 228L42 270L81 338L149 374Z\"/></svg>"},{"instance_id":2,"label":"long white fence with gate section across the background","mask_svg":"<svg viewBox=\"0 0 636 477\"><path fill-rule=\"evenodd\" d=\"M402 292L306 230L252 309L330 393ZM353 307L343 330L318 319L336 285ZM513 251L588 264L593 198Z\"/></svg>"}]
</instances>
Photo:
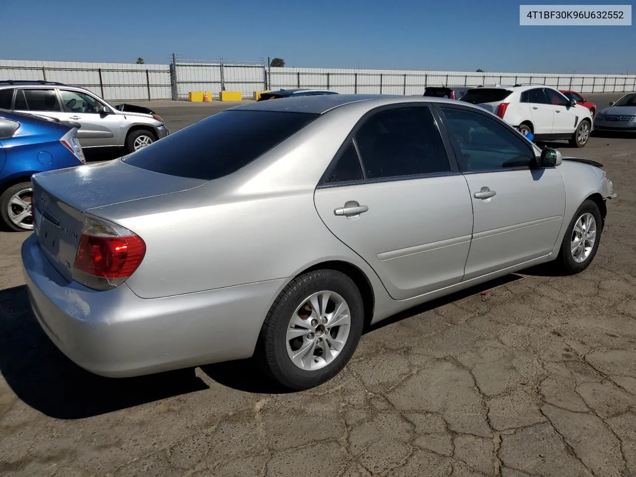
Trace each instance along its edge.
<instances>
[{"instance_id":1,"label":"long white fence with gate section across the background","mask_svg":"<svg viewBox=\"0 0 636 477\"><path fill-rule=\"evenodd\" d=\"M189 60L170 64L112 64L0 60L2 80L58 81L88 88L106 100L188 99L190 92L326 88L338 93L422 95L426 86L536 83L581 93L636 90L636 75L469 73L268 67L266 61Z\"/></svg>"}]
</instances>

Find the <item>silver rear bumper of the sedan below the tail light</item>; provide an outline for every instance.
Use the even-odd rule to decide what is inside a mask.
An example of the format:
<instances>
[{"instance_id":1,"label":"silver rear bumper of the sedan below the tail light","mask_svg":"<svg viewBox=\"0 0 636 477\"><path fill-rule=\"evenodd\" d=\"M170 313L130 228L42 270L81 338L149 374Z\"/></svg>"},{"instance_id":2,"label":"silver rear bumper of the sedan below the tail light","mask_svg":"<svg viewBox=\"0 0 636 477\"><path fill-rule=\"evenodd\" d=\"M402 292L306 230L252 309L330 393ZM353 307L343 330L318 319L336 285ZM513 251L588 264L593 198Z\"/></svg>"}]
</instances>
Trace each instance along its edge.
<instances>
[{"instance_id":1,"label":"silver rear bumper of the sedan below the tail light","mask_svg":"<svg viewBox=\"0 0 636 477\"><path fill-rule=\"evenodd\" d=\"M67 282L33 234L22 244L29 301L46 335L71 361L106 377L252 355L285 279L144 299L123 284L95 291Z\"/></svg>"}]
</instances>

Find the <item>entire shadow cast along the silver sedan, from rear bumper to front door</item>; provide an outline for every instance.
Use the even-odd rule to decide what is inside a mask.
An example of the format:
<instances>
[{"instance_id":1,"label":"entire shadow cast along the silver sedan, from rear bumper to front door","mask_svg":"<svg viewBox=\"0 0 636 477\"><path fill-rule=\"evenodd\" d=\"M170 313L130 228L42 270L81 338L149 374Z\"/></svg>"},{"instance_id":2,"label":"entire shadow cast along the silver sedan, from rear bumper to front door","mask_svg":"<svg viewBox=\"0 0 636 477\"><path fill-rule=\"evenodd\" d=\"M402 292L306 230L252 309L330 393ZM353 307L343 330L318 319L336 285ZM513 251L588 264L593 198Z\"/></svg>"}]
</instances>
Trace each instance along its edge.
<instances>
[{"instance_id":1,"label":"entire shadow cast along the silver sedan, from rear bumper to front door","mask_svg":"<svg viewBox=\"0 0 636 477\"><path fill-rule=\"evenodd\" d=\"M371 325L364 334L521 278L522 275L509 274L437 298ZM135 378L104 378L79 368L40 328L29 308L26 286L1 290L0 312L0 372L22 401L50 417L92 417L209 389L195 375L195 368ZM207 364L200 369L218 384L237 391L293 392L261 373L253 359Z\"/></svg>"}]
</instances>

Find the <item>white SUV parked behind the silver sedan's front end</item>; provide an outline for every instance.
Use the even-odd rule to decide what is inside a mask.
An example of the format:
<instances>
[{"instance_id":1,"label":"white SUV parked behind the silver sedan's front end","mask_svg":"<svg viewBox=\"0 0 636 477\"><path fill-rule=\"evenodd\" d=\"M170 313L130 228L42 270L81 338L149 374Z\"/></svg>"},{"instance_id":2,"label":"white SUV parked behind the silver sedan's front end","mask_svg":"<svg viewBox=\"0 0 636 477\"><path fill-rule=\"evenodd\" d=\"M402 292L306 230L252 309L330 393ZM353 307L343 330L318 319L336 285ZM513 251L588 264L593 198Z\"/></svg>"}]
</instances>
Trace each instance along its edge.
<instances>
[{"instance_id":1,"label":"white SUV parked behind the silver sedan's front end","mask_svg":"<svg viewBox=\"0 0 636 477\"><path fill-rule=\"evenodd\" d=\"M497 114L534 141L568 139L583 148L590 139L590 110L544 85L479 86L461 99Z\"/></svg>"}]
</instances>

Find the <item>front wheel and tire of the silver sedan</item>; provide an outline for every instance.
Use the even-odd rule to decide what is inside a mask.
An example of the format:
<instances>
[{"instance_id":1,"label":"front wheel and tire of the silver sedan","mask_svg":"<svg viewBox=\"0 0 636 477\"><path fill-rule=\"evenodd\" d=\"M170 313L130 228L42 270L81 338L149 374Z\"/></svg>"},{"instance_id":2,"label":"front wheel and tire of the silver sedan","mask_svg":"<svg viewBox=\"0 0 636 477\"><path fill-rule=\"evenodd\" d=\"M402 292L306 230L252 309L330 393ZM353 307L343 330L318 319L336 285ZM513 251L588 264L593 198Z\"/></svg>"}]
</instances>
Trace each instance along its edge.
<instances>
[{"instance_id":1,"label":"front wheel and tire of the silver sedan","mask_svg":"<svg viewBox=\"0 0 636 477\"><path fill-rule=\"evenodd\" d=\"M563 236L556 266L565 275L583 272L594 259L600 243L603 222L598 205L586 200L576 211Z\"/></svg>"}]
</instances>

